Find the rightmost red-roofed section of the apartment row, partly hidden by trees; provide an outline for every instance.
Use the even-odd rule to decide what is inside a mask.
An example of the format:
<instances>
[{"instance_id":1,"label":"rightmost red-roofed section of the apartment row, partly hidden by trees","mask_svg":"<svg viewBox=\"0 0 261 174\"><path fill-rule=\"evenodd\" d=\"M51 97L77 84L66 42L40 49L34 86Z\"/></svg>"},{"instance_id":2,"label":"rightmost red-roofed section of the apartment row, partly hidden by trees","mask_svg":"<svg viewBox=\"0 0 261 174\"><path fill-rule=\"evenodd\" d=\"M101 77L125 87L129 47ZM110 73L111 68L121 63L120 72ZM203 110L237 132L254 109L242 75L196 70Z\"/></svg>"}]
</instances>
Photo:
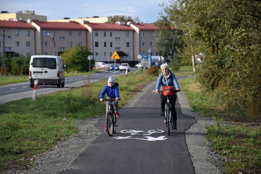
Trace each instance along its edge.
<instances>
[{"instance_id":1,"label":"rightmost red-roofed section of the apartment row, partly hidden by trees","mask_svg":"<svg viewBox=\"0 0 261 174\"><path fill-rule=\"evenodd\" d=\"M157 50L153 47L153 42L155 41L153 34L155 31L159 30L158 27L154 26L154 24L136 24L130 22L127 25L135 30L134 55L148 55L149 49L151 51L151 55L159 55Z\"/></svg>"}]
</instances>

